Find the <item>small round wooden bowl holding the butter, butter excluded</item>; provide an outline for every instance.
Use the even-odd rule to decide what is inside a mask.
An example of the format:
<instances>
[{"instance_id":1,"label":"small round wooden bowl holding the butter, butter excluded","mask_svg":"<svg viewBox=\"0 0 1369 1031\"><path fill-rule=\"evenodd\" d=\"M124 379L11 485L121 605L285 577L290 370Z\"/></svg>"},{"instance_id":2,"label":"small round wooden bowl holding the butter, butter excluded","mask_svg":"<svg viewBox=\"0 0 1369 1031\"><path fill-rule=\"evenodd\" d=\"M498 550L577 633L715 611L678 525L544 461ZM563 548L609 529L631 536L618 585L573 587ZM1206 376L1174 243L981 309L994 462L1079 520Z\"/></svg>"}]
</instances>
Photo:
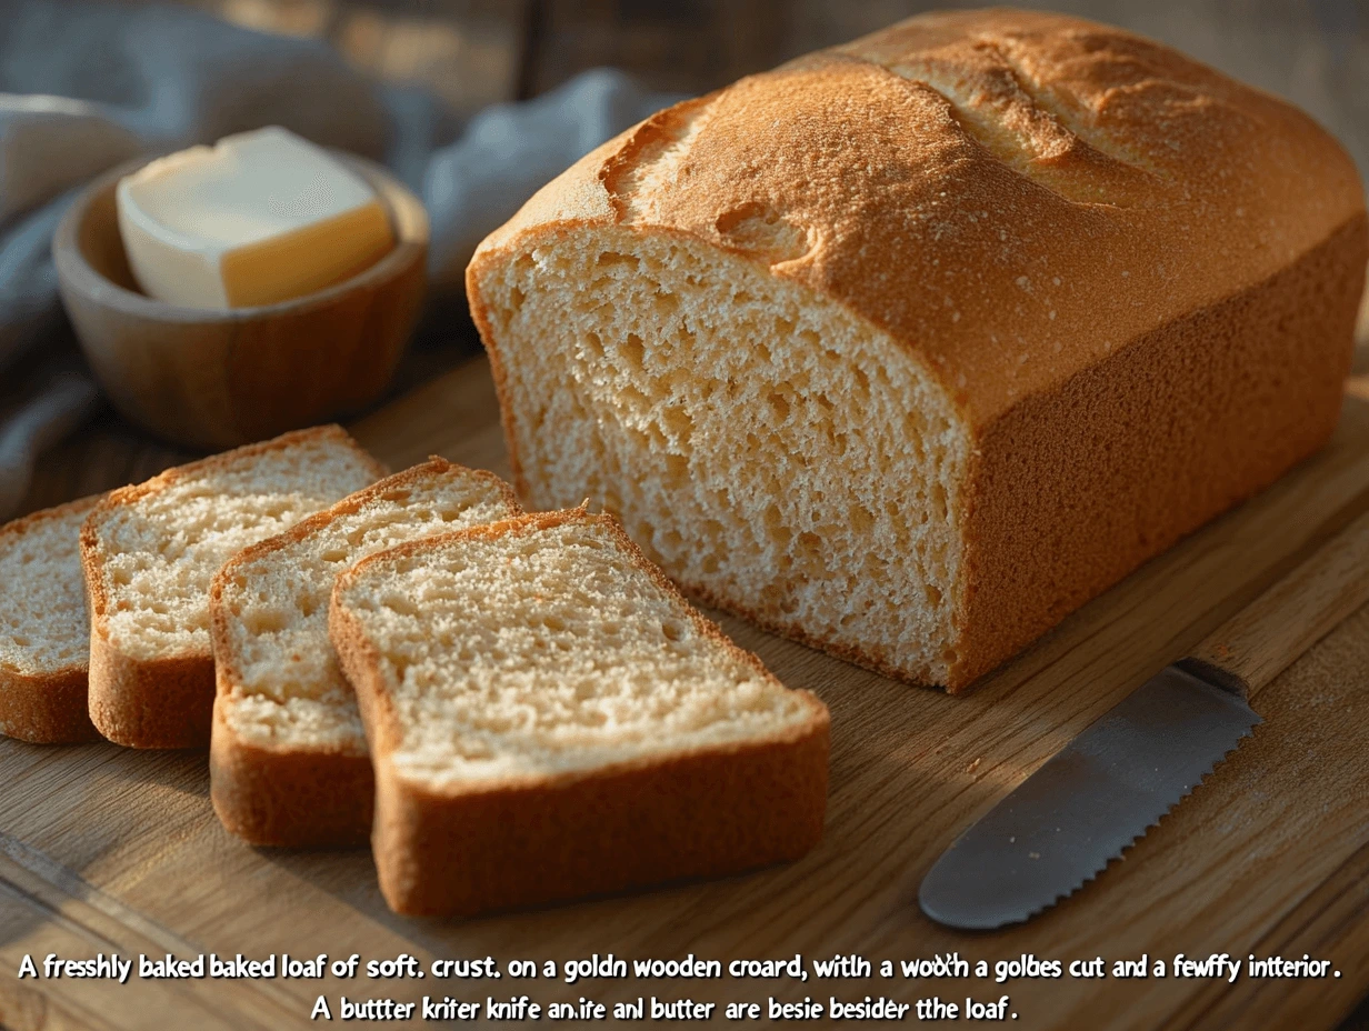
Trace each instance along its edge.
<instances>
[{"instance_id":1,"label":"small round wooden bowl holding the butter, butter excluded","mask_svg":"<svg viewBox=\"0 0 1369 1031\"><path fill-rule=\"evenodd\" d=\"M378 166L338 157L381 196L394 249L335 286L257 308L183 308L138 290L115 186L148 159L77 197L52 241L62 300L126 418L177 444L220 449L330 422L385 392L423 304L427 214Z\"/></svg>"}]
</instances>

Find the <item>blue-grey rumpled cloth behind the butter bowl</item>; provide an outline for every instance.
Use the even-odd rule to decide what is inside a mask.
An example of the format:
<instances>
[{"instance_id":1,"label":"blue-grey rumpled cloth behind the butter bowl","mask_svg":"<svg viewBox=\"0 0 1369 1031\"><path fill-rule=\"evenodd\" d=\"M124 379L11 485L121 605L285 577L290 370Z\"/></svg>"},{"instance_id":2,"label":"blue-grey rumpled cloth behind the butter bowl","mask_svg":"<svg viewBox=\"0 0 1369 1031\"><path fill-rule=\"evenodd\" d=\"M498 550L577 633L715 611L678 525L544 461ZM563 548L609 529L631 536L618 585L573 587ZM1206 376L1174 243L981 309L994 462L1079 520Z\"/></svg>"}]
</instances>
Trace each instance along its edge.
<instances>
[{"instance_id":1,"label":"blue-grey rumpled cloth behind the butter bowl","mask_svg":"<svg viewBox=\"0 0 1369 1031\"><path fill-rule=\"evenodd\" d=\"M543 182L675 99L601 68L494 105L449 140L434 97L378 85L318 40L183 8L15 0L0 18L0 382L63 335L52 233L81 185L119 162L263 125L385 160L427 205L441 296ZM0 422L0 519L34 456L94 407L88 374L47 382Z\"/></svg>"}]
</instances>

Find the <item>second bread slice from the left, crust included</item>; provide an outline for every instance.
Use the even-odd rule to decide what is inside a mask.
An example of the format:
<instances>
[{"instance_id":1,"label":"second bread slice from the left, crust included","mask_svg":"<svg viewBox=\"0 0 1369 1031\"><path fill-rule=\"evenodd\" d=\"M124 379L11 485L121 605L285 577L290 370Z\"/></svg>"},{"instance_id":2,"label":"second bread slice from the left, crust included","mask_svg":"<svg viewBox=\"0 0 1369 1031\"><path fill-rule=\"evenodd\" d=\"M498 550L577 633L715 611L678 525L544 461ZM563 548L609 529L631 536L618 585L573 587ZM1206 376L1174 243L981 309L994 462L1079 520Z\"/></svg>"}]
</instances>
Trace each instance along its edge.
<instances>
[{"instance_id":1,"label":"second bread slice from the left, crust included","mask_svg":"<svg viewBox=\"0 0 1369 1031\"><path fill-rule=\"evenodd\" d=\"M209 743L209 582L225 560L385 475L337 426L112 492L81 530L90 720L131 748Z\"/></svg>"}]
</instances>

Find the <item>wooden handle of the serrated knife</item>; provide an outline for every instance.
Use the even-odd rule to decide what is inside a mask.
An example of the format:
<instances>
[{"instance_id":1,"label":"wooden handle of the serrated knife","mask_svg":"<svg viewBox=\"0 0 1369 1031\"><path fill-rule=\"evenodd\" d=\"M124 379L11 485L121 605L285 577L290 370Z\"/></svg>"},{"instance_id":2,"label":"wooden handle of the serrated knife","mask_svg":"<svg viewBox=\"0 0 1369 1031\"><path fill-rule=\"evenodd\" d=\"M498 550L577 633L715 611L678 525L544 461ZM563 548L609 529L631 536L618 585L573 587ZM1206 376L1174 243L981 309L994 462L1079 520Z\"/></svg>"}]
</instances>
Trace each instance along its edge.
<instances>
[{"instance_id":1,"label":"wooden handle of the serrated knife","mask_svg":"<svg viewBox=\"0 0 1369 1031\"><path fill-rule=\"evenodd\" d=\"M1250 698L1369 601L1369 513L1228 619L1180 667Z\"/></svg>"}]
</instances>

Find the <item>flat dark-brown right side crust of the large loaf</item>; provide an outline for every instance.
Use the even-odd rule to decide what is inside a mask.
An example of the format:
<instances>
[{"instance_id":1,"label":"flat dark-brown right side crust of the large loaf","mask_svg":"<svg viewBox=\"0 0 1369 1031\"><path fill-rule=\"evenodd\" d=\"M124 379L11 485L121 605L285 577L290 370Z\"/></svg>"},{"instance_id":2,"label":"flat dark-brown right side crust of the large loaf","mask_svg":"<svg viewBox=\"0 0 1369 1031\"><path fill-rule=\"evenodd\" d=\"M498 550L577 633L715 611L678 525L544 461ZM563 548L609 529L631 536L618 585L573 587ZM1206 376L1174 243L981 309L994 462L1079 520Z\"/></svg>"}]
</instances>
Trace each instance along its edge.
<instances>
[{"instance_id":1,"label":"flat dark-brown right side crust of the large loaf","mask_svg":"<svg viewBox=\"0 0 1369 1031\"><path fill-rule=\"evenodd\" d=\"M1268 281L990 427L965 516L951 691L1327 442L1350 372L1366 226L1359 215Z\"/></svg>"}]
</instances>

